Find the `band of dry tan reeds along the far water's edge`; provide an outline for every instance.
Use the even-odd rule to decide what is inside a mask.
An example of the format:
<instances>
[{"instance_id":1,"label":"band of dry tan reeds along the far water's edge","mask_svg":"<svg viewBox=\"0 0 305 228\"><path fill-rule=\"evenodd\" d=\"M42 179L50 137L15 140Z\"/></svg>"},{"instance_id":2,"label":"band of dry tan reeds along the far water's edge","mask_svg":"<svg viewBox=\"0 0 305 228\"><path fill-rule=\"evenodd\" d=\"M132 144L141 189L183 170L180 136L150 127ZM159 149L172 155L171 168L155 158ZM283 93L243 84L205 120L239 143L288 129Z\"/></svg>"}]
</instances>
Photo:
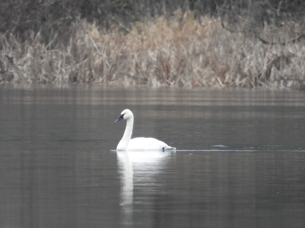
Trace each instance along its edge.
<instances>
[{"instance_id":1,"label":"band of dry tan reeds along the far water's edge","mask_svg":"<svg viewBox=\"0 0 305 228\"><path fill-rule=\"evenodd\" d=\"M246 88L305 85L302 40L264 44L245 33L225 30L217 18L198 20L190 12L178 11L170 19L160 16L137 22L129 33L117 25L102 30L85 20L74 23L70 31L67 45L61 45L56 35L49 44L43 43L39 32L28 31L24 42L1 34L2 54L12 56L20 70L13 69L13 77L6 81Z\"/></svg>"}]
</instances>

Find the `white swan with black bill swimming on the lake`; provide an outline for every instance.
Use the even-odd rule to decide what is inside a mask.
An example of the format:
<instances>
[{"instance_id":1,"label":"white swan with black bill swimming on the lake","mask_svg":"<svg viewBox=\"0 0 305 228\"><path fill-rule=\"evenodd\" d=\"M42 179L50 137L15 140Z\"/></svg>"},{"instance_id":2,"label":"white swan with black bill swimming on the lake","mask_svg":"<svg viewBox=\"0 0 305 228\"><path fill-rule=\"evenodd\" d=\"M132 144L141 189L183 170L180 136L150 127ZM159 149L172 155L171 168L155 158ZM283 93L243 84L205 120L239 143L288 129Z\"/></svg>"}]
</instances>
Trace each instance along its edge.
<instances>
[{"instance_id":1,"label":"white swan with black bill swimming on the lake","mask_svg":"<svg viewBox=\"0 0 305 228\"><path fill-rule=\"evenodd\" d=\"M114 123L117 123L122 119L126 119L127 124L124 135L117 145L117 150L176 150L175 147L170 147L166 143L154 138L139 137L131 139L133 128L132 112L129 109L125 109Z\"/></svg>"}]
</instances>

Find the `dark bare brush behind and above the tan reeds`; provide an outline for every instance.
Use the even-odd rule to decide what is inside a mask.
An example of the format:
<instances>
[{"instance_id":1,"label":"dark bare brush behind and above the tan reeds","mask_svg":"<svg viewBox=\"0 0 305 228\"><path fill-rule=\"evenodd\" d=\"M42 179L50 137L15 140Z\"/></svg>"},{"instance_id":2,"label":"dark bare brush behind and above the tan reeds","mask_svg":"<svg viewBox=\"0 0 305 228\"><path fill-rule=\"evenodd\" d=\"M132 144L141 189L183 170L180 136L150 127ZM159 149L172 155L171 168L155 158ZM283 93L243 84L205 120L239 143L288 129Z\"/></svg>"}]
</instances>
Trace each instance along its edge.
<instances>
[{"instance_id":1,"label":"dark bare brush behind and above the tan reeds","mask_svg":"<svg viewBox=\"0 0 305 228\"><path fill-rule=\"evenodd\" d=\"M224 17L234 23L247 21L253 32L264 26L264 21L281 26L287 20L303 20L303 0L2 0L0 2L0 33L9 31L27 39L27 31L41 32L48 43L59 36L67 43L70 24L78 19L93 20L109 29L113 17L125 26L135 21L165 15L173 16L177 9L191 10L199 15ZM1 47L0 47L1 48Z\"/></svg>"}]
</instances>

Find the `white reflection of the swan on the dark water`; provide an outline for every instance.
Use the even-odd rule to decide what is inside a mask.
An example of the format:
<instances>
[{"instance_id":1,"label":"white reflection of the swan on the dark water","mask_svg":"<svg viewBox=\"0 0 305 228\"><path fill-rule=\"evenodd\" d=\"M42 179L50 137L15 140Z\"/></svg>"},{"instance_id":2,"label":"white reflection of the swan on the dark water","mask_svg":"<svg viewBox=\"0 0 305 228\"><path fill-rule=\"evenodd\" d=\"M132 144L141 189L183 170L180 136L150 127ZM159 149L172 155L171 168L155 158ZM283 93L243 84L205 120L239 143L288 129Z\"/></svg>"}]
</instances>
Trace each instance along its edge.
<instances>
[{"instance_id":1,"label":"white reflection of the swan on the dark water","mask_svg":"<svg viewBox=\"0 0 305 228\"><path fill-rule=\"evenodd\" d=\"M153 191L153 186L147 185L154 181L156 175L165 168L169 151L117 151L117 162L121 174L121 200L123 224L132 225L134 185L141 183ZM146 191L146 189L144 189Z\"/></svg>"}]
</instances>

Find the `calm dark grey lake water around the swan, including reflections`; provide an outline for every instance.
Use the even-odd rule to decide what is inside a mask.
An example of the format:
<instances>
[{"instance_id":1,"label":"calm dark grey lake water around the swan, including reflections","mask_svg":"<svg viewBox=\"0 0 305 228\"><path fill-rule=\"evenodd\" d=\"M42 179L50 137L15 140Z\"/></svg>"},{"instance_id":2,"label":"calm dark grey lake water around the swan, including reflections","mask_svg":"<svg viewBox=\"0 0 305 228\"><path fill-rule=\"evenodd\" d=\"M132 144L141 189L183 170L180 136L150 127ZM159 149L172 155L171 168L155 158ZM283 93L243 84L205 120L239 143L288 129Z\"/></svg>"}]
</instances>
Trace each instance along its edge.
<instances>
[{"instance_id":1,"label":"calm dark grey lake water around the swan, including reflections","mask_svg":"<svg viewBox=\"0 0 305 228\"><path fill-rule=\"evenodd\" d=\"M0 126L0 227L305 226L301 91L2 84Z\"/></svg>"}]
</instances>

